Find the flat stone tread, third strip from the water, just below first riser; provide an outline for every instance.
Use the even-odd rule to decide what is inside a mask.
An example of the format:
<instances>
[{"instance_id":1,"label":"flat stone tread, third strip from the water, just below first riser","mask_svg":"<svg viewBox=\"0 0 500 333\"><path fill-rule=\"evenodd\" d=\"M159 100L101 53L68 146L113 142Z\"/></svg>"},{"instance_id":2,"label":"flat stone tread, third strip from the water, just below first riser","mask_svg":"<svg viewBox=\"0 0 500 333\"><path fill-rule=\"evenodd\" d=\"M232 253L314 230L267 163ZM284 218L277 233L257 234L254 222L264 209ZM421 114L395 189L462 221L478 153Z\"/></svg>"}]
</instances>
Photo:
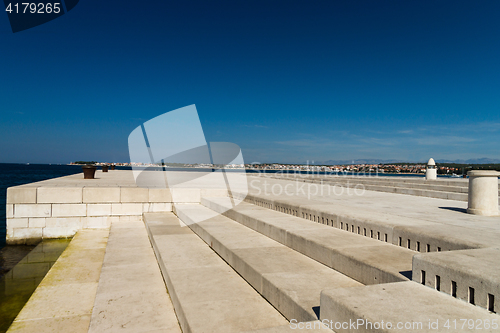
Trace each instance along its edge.
<instances>
[{"instance_id":1,"label":"flat stone tread, third strip from the water, just below first riser","mask_svg":"<svg viewBox=\"0 0 500 333\"><path fill-rule=\"evenodd\" d=\"M235 333L288 324L173 213L146 213L144 219L184 333Z\"/></svg>"}]
</instances>

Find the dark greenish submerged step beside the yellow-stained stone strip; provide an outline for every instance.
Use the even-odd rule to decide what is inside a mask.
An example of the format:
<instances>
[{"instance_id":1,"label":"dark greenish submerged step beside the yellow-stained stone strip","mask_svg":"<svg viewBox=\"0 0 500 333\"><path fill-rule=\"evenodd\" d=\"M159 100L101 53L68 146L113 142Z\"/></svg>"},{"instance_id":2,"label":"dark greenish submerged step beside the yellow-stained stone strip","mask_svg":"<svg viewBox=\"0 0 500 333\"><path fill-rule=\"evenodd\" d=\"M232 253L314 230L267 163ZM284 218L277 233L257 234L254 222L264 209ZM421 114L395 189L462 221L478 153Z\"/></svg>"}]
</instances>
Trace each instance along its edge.
<instances>
[{"instance_id":1,"label":"dark greenish submerged step beside the yellow-stained stone strip","mask_svg":"<svg viewBox=\"0 0 500 333\"><path fill-rule=\"evenodd\" d=\"M70 241L43 240L0 278L0 333L8 330Z\"/></svg>"}]
</instances>

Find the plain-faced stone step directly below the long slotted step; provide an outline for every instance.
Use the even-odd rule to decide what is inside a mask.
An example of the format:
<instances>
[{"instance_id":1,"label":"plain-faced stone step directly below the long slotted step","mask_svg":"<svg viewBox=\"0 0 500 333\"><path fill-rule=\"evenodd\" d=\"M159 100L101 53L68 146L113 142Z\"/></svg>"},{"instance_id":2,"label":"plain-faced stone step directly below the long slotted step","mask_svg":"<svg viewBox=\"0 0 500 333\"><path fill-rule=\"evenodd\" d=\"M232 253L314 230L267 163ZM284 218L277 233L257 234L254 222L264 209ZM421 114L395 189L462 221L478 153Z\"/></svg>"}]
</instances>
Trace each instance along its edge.
<instances>
[{"instance_id":1,"label":"plain-faced stone step directly below the long slotted step","mask_svg":"<svg viewBox=\"0 0 500 333\"><path fill-rule=\"evenodd\" d=\"M202 204L363 283L406 281L414 251L229 198Z\"/></svg>"}]
</instances>

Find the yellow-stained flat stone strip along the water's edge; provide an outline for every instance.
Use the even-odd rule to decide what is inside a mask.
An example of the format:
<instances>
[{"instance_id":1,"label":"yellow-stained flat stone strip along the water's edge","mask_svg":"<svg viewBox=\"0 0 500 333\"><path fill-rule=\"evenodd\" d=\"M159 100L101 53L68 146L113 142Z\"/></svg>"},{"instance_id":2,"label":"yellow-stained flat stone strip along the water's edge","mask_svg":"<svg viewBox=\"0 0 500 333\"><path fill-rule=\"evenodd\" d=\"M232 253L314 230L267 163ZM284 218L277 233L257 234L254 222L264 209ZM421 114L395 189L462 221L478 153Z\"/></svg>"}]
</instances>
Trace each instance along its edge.
<instances>
[{"instance_id":1,"label":"yellow-stained flat stone strip along the water's edge","mask_svg":"<svg viewBox=\"0 0 500 333\"><path fill-rule=\"evenodd\" d=\"M78 232L8 332L87 332L108 233Z\"/></svg>"}]
</instances>

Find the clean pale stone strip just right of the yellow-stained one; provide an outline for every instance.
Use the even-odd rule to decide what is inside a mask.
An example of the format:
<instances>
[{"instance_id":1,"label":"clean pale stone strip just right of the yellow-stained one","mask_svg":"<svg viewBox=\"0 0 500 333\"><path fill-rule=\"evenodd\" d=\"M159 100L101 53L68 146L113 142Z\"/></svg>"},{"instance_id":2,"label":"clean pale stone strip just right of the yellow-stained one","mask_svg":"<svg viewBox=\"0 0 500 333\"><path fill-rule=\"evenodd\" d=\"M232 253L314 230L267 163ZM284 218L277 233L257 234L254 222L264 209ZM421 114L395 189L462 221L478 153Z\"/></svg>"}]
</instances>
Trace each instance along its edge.
<instances>
[{"instance_id":1,"label":"clean pale stone strip just right of the yellow-stained one","mask_svg":"<svg viewBox=\"0 0 500 333\"><path fill-rule=\"evenodd\" d=\"M144 223L111 225L89 332L178 332Z\"/></svg>"}]
</instances>

